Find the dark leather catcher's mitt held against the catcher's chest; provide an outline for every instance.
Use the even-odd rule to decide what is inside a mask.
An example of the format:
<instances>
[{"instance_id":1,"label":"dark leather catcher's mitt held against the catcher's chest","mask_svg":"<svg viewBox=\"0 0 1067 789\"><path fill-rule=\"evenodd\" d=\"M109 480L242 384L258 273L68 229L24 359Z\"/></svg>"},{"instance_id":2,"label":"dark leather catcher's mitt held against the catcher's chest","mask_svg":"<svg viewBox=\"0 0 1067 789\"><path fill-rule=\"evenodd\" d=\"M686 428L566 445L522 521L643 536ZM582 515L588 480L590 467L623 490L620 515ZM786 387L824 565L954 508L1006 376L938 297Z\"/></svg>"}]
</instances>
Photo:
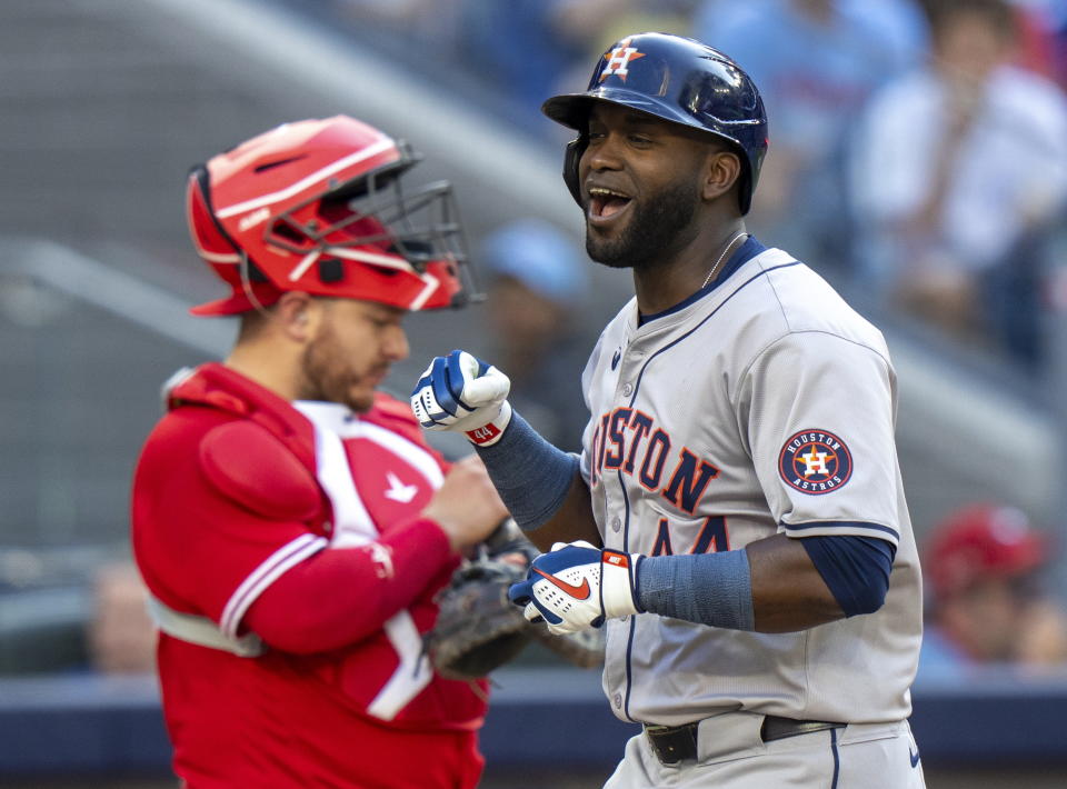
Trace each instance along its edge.
<instances>
[{"instance_id":1,"label":"dark leather catcher's mitt held against the catcher's chest","mask_svg":"<svg viewBox=\"0 0 1067 789\"><path fill-rule=\"evenodd\" d=\"M575 666L604 662L604 633L589 630L555 636L544 622L534 625L508 600L508 587L526 579L539 551L512 520L506 520L438 592L437 623L423 647L438 673L477 679L512 660L530 639Z\"/></svg>"}]
</instances>

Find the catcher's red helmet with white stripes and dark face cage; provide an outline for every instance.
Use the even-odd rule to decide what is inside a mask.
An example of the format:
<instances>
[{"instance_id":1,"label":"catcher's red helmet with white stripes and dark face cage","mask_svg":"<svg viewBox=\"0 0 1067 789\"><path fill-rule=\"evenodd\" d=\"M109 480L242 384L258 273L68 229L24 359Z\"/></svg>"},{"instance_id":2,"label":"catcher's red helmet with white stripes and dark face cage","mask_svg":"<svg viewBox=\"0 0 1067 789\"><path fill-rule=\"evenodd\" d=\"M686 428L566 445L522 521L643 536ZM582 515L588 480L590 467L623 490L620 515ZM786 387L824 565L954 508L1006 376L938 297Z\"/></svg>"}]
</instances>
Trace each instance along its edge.
<instances>
[{"instance_id":1,"label":"catcher's red helmet with white stripes and dark face cage","mask_svg":"<svg viewBox=\"0 0 1067 789\"><path fill-rule=\"evenodd\" d=\"M193 168L189 230L232 288L193 314L245 312L287 290L408 310L465 303L451 187L401 190L418 160L403 141L337 116L282 124Z\"/></svg>"}]
</instances>

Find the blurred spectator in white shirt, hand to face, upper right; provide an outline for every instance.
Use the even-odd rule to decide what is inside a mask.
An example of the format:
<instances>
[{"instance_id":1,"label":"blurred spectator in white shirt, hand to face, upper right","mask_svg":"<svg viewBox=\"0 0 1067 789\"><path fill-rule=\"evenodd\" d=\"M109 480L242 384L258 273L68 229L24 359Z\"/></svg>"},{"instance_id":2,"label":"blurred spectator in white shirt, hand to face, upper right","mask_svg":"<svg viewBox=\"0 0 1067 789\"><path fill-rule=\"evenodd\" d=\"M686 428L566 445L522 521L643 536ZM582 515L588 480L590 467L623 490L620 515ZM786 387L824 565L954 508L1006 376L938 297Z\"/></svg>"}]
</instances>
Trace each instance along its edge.
<instances>
[{"instance_id":1,"label":"blurred spectator in white shirt, hand to face, upper right","mask_svg":"<svg viewBox=\"0 0 1067 789\"><path fill-rule=\"evenodd\" d=\"M1006 0L929 3L929 64L882 90L852 140L867 281L959 338L1037 356L1040 239L1067 193L1067 102L1011 66Z\"/></svg>"}]
</instances>

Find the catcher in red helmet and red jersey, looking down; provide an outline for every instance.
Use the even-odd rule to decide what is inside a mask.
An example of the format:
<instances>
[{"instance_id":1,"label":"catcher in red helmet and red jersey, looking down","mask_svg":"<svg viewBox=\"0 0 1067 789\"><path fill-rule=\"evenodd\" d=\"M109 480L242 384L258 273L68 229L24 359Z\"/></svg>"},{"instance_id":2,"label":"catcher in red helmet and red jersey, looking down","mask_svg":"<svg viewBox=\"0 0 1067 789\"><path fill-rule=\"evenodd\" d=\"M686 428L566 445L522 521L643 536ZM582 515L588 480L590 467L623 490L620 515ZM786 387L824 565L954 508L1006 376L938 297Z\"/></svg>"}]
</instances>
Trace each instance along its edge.
<instances>
[{"instance_id":1,"label":"catcher in red helmet and red jersey, looking down","mask_svg":"<svg viewBox=\"0 0 1067 789\"><path fill-rule=\"evenodd\" d=\"M447 184L400 192L416 161L339 116L189 178L192 240L232 290L192 311L240 329L169 382L132 502L188 789L478 782L485 688L433 672L422 636L506 510L477 458L449 469L375 391L405 314L465 294Z\"/></svg>"}]
</instances>

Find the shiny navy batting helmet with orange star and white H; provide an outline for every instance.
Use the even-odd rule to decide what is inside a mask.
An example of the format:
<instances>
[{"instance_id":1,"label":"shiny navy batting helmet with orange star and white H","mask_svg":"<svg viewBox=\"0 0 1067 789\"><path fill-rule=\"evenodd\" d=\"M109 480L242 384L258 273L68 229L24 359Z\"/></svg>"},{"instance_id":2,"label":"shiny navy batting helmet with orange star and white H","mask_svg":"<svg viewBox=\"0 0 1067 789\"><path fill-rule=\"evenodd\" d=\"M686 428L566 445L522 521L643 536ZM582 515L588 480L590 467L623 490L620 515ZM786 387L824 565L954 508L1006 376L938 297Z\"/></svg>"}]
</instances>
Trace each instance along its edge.
<instances>
[{"instance_id":1,"label":"shiny navy batting helmet with orange star and white H","mask_svg":"<svg viewBox=\"0 0 1067 789\"><path fill-rule=\"evenodd\" d=\"M541 111L578 131L567 146L564 180L579 203L578 160L586 150L589 110L608 101L710 132L741 154L738 202L748 213L767 153L767 113L756 84L716 49L669 33L638 33L614 43L585 93L555 96Z\"/></svg>"}]
</instances>

